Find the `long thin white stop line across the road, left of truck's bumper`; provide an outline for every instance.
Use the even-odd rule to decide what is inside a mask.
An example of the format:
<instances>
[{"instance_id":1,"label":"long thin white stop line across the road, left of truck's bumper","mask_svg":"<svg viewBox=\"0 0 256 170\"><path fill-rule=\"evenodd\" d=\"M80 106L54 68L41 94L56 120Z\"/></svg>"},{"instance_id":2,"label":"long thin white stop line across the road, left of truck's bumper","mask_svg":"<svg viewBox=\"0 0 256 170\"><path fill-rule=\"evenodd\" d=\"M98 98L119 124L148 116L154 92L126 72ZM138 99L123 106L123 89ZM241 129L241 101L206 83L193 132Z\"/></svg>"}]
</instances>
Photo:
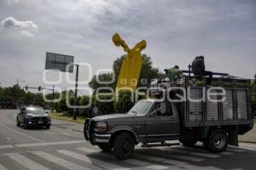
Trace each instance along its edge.
<instances>
[{"instance_id":1,"label":"long thin white stop line across the road, left of truck's bumper","mask_svg":"<svg viewBox=\"0 0 256 170\"><path fill-rule=\"evenodd\" d=\"M79 144L84 143L84 140L68 140L61 142L45 142L45 143L35 143L35 144L15 144L19 148L23 147L33 147L33 146L45 146L45 145L59 145L59 144Z\"/></svg>"}]
</instances>

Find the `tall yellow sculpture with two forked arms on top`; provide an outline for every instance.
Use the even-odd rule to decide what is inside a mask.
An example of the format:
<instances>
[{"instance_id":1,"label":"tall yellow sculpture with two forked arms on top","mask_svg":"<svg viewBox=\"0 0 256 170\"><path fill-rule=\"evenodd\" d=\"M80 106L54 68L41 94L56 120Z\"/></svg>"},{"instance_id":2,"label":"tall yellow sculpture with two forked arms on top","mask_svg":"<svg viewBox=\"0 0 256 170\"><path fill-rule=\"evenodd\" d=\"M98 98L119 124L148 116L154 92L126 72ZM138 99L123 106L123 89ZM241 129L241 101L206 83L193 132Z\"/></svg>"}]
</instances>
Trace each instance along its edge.
<instances>
[{"instance_id":1,"label":"tall yellow sculpture with two forked arms on top","mask_svg":"<svg viewBox=\"0 0 256 170\"><path fill-rule=\"evenodd\" d=\"M125 88L135 91L137 89L137 82L143 65L141 51L146 48L147 42L145 40L138 42L134 48L130 49L125 41L119 37L118 33L114 34L112 39L114 45L117 47L122 46L124 51L127 52L119 72L116 91Z\"/></svg>"}]
</instances>

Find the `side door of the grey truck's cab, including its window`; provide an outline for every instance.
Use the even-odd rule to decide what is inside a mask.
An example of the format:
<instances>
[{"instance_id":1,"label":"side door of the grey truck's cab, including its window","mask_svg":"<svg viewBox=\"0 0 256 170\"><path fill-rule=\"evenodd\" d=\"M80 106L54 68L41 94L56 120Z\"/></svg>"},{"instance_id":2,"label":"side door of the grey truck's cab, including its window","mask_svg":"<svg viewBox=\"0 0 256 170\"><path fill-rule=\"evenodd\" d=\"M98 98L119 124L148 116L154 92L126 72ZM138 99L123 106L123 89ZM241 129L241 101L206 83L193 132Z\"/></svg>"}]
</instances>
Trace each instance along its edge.
<instances>
[{"instance_id":1,"label":"side door of the grey truck's cab, including its window","mask_svg":"<svg viewBox=\"0 0 256 170\"><path fill-rule=\"evenodd\" d=\"M177 111L171 103L154 103L146 118L148 139L171 138L179 133Z\"/></svg>"}]
</instances>

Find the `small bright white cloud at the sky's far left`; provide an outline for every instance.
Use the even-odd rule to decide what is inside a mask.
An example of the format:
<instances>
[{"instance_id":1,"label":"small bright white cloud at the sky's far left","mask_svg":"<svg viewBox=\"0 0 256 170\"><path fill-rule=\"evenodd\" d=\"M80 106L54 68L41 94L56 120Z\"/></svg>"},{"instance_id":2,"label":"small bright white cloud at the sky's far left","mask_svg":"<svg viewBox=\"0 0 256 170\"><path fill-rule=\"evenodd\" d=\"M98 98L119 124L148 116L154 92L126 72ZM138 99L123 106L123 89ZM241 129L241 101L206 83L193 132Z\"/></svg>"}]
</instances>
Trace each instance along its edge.
<instances>
[{"instance_id":1,"label":"small bright white cloud at the sky's far left","mask_svg":"<svg viewBox=\"0 0 256 170\"><path fill-rule=\"evenodd\" d=\"M17 29L20 33L26 37L32 37L33 31L38 30L38 25L33 23L33 21L20 21L16 20L14 17L8 17L1 21L1 26L6 29Z\"/></svg>"}]
</instances>

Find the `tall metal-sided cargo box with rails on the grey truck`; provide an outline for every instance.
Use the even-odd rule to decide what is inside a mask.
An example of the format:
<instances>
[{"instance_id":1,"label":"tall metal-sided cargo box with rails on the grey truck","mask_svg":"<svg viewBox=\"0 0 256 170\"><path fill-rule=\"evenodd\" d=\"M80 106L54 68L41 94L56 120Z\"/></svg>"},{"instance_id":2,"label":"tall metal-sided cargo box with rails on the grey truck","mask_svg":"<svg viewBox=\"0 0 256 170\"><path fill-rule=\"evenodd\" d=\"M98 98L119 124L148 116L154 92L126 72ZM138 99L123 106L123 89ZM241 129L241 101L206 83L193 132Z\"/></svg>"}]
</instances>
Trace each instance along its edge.
<instances>
[{"instance_id":1,"label":"tall metal-sided cargo box with rails on the grey truck","mask_svg":"<svg viewBox=\"0 0 256 170\"><path fill-rule=\"evenodd\" d=\"M169 94L166 94L183 95L184 101L177 102L177 107L184 127L241 125L240 133L246 133L253 126L250 80L214 77L211 86L206 82L207 78L198 81L196 77L185 75L177 82L162 79L151 84L151 94L156 98L162 98L163 91L168 91L167 88L170 88ZM183 90L177 90L177 87ZM209 99L209 93L217 95L211 95ZM201 99L201 101L194 102L190 99Z\"/></svg>"}]
</instances>

